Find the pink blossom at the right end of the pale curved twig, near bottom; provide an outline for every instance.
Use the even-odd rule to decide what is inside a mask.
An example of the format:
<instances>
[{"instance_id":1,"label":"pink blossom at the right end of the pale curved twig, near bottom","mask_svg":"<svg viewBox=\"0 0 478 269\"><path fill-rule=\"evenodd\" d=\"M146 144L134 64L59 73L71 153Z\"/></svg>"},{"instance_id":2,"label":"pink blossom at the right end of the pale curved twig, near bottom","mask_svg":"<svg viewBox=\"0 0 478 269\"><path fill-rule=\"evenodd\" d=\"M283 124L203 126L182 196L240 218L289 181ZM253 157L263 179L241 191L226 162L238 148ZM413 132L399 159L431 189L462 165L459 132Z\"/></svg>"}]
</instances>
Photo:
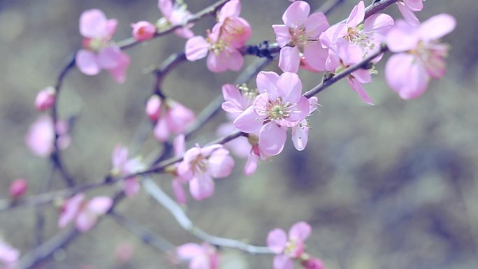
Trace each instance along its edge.
<instances>
[{"instance_id":1,"label":"pink blossom at the right end of the pale curved twig, near bottom","mask_svg":"<svg viewBox=\"0 0 478 269\"><path fill-rule=\"evenodd\" d=\"M267 235L267 246L276 254L274 269L291 269L294 259L301 259L305 251L304 241L310 236L312 228L301 221L289 230L289 238L281 228L275 228Z\"/></svg>"}]
</instances>

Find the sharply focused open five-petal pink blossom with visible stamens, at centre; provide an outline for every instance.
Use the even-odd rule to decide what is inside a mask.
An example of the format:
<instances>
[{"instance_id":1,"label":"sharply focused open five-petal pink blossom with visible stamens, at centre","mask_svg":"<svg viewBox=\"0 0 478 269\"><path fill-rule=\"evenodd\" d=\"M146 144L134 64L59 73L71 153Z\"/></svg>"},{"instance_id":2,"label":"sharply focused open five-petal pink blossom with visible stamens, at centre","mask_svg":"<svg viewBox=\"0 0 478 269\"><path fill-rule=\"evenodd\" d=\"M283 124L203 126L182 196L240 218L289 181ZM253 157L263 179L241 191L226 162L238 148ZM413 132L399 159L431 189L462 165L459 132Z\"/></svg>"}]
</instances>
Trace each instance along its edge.
<instances>
[{"instance_id":1,"label":"sharply focused open five-petal pink blossom with visible stamens, at centre","mask_svg":"<svg viewBox=\"0 0 478 269\"><path fill-rule=\"evenodd\" d=\"M256 78L259 95L234 120L245 133L259 132L259 147L270 156L282 152L287 129L309 115L310 103L302 96L302 82L296 73L260 72ZM299 150L299 149L298 149Z\"/></svg>"}]
</instances>

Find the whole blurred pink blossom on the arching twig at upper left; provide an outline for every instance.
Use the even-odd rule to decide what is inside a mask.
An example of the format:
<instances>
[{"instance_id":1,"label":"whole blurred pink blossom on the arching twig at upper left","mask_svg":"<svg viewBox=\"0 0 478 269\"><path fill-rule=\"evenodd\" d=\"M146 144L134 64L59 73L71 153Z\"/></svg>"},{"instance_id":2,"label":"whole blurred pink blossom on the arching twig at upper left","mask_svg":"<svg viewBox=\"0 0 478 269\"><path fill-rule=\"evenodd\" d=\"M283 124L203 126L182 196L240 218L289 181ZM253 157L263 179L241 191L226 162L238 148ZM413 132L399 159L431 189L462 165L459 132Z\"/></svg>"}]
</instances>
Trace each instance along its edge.
<instances>
[{"instance_id":1,"label":"whole blurred pink blossom on the arching twig at upper left","mask_svg":"<svg viewBox=\"0 0 478 269\"><path fill-rule=\"evenodd\" d=\"M97 75L101 69L107 70L118 83L126 80L129 66L128 54L110 40L115 34L117 20L106 18L99 9L85 10L80 16L80 34L83 48L76 53L76 66L85 75Z\"/></svg>"}]
</instances>

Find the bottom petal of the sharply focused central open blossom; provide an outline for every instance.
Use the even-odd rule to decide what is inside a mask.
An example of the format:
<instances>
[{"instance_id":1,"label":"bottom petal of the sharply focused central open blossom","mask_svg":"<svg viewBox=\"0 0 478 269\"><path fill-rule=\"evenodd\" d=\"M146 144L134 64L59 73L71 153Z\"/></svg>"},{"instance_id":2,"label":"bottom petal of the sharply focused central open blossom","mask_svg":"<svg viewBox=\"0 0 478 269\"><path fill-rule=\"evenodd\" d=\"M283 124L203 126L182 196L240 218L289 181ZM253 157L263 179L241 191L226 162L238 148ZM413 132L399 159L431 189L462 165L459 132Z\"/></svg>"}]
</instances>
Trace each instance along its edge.
<instances>
[{"instance_id":1,"label":"bottom petal of the sharply focused central open blossom","mask_svg":"<svg viewBox=\"0 0 478 269\"><path fill-rule=\"evenodd\" d=\"M259 131L259 147L264 153L275 156L284 149L287 133L275 122L269 122Z\"/></svg>"}]
</instances>

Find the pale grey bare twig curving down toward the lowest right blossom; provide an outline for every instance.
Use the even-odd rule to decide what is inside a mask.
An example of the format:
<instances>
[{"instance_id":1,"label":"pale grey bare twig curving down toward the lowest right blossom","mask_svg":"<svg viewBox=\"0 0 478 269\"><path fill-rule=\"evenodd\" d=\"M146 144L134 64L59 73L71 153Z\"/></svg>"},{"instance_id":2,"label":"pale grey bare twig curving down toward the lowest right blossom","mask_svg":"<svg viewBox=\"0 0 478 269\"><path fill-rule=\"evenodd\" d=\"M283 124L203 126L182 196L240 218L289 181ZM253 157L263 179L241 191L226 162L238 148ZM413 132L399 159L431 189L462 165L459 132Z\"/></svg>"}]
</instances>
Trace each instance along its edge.
<instances>
[{"instance_id":1,"label":"pale grey bare twig curving down toward the lowest right blossom","mask_svg":"<svg viewBox=\"0 0 478 269\"><path fill-rule=\"evenodd\" d=\"M178 205L178 203L176 203L175 201L173 201L173 199L171 199L149 177L146 177L143 180L143 187L154 198L154 200L163 205L166 210L171 212L176 221L178 221L178 224L180 224L180 226L191 235L194 235L205 242L209 242L212 245L240 249L250 254L273 254L273 252L271 252L268 247L257 247L254 245L246 244L245 242L241 242L239 240L221 238L206 233L205 231L201 230L201 228L194 226L193 222L191 221L191 219L189 219L189 217L187 217L181 206Z\"/></svg>"}]
</instances>

